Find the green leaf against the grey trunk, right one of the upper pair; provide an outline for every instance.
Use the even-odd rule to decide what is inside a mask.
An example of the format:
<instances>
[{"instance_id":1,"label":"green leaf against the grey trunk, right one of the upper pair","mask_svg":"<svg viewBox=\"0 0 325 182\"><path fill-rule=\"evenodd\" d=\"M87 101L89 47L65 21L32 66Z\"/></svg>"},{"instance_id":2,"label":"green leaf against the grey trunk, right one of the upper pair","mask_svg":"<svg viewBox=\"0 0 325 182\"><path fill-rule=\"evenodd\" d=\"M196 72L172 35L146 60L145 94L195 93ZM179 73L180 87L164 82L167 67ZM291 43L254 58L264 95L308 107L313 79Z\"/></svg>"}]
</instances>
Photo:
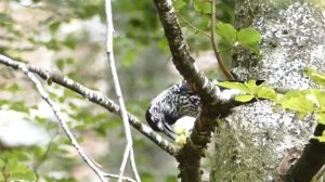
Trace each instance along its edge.
<instances>
[{"instance_id":1,"label":"green leaf against the grey trunk, right one of the upper pair","mask_svg":"<svg viewBox=\"0 0 325 182\"><path fill-rule=\"evenodd\" d=\"M259 54L258 43L261 40L261 35L253 28L244 28L237 32L237 40L244 48Z\"/></svg>"}]
</instances>

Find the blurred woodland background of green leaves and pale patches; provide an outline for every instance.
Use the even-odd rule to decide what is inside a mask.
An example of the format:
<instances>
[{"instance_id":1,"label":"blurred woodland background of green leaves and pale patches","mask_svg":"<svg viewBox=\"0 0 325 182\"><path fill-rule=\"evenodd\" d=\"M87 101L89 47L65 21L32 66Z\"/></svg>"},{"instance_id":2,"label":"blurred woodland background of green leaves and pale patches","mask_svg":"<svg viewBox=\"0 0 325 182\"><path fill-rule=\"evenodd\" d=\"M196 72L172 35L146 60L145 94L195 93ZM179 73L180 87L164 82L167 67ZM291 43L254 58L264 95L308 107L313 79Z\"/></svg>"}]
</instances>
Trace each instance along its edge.
<instances>
[{"instance_id":1,"label":"blurred woodland background of green leaves and pale patches","mask_svg":"<svg viewBox=\"0 0 325 182\"><path fill-rule=\"evenodd\" d=\"M210 78L222 78L210 39L203 34L210 31L210 3L173 2L199 67ZM232 23L234 3L219 1L218 20ZM127 108L145 122L150 101L181 77L172 65L153 1L113 0L113 13L115 58ZM104 23L103 0L1 0L0 53L69 76L116 101ZM230 64L230 52L223 53ZM120 118L55 83L43 83L87 154L105 171L118 173L126 144ZM98 180L21 73L0 65L0 181ZM174 159L138 131L132 134L142 180L177 181ZM209 169L208 161L205 167ZM127 174L132 177L129 168Z\"/></svg>"}]
</instances>

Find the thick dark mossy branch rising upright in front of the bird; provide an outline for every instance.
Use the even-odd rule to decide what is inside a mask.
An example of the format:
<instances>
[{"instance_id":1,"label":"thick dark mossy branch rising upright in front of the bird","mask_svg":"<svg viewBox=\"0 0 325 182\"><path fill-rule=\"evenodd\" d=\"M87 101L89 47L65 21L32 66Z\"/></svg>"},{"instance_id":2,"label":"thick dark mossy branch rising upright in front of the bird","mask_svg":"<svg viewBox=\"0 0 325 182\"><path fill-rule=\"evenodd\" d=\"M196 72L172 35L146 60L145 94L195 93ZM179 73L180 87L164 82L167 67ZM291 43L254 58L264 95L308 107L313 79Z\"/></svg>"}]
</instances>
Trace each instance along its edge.
<instances>
[{"instance_id":1,"label":"thick dark mossy branch rising upright in front of the bird","mask_svg":"<svg viewBox=\"0 0 325 182\"><path fill-rule=\"evenodd\" d=\"M224 106L224 104L220 103L220 89L214 87L204 73L197 68L194 58L190 55L188 47L172 6L172 1L154 0L154 2L165 29L173 64L191 86L192 90L200 96L203 102L200 115L195 122L190 140L177 156L180 162L182 181L197 182L200 181L202 176L199 169L200 157L207 143L210 141L216 119L222 113L227 112L231 105Z\"/></svg>"}]
</instances>

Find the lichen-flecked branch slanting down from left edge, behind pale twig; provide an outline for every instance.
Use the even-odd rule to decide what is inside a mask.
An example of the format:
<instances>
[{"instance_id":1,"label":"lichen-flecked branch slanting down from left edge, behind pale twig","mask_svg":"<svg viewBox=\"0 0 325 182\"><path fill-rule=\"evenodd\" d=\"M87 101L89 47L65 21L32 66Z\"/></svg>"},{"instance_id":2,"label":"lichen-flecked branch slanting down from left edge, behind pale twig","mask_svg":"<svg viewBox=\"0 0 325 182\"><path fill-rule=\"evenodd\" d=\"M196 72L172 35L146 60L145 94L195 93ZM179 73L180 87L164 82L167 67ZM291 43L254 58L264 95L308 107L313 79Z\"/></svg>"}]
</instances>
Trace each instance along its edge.
<instances>
[{"instance_id":1,"label":"lichen-flecked branch slanting down from left edge, behind pale twig","mask_svg":"<svg viewBox=\"0 0 325 182\"><path fill-rule=\"evenodd\" d=\"M13 61L4 55L0 54L0 63L4 64L9 67L12 67L14 69L18 68L20 64L24 64L22 62ZM24 64L26 65L26 64ZM112 100L109 100L107 96L102 95L99 92L95 92L93 90L90 90L86 88L84 86L72 80L68 77L61 76L56 73L51 73L38 67L26 65L27 69L29 72L32 72L40 76L42 79L48 80L48 82L55 82L60 86L63 86L67 89L70 89L83 98L88 99L89 101L99 104L103 106L104 108L108 109L112 113L115 113L116 115L120 116L120 109L117 104L115 104ZM169 143L167 140L161 138L159 134L157 134L155 131L153 131L150 127L142 123L135 116L128 113L129 122L141 133L146 135L150 140L152 140L154 143L156 143L159 147L161 147L164 151L169 153L170 155L174 156L178 152L177 147Z\"/></svg>"}]
</instances>

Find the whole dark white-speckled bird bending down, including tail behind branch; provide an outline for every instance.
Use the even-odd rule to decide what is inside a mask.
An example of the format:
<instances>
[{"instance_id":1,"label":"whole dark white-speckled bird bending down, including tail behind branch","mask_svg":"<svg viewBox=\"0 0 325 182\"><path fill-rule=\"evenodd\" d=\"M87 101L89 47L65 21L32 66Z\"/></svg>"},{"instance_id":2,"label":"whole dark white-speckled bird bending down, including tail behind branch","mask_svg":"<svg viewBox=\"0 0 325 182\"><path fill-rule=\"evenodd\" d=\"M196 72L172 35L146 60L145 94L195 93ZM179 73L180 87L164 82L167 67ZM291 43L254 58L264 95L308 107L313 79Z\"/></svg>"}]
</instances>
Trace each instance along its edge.
<instances>
[{"instance_id":1,"label":"whole dark white-speckled bird bending down, including tail behind branch","mask_svg":"<svg viewBox=\"0 0 325 182\"><path fill-rule=\"evenodd\" d=\"M238 80L231 80L244 82ZM257 80L257 86L264 80ZM219 87L221 90L220 100L229 101L230 96L243 93L238 90L232 90ZM239 105L231 104L231 107ZM194 127L195 118L200 112L200 98L194 93L185 80L180 80L170 88L156 95L150 103L145 119L150 127L158 132L162 132L171 140L177 140L179 132L191 131ZM180 131L181 130L181 131Z\"/></svg>"}]
</instances>

